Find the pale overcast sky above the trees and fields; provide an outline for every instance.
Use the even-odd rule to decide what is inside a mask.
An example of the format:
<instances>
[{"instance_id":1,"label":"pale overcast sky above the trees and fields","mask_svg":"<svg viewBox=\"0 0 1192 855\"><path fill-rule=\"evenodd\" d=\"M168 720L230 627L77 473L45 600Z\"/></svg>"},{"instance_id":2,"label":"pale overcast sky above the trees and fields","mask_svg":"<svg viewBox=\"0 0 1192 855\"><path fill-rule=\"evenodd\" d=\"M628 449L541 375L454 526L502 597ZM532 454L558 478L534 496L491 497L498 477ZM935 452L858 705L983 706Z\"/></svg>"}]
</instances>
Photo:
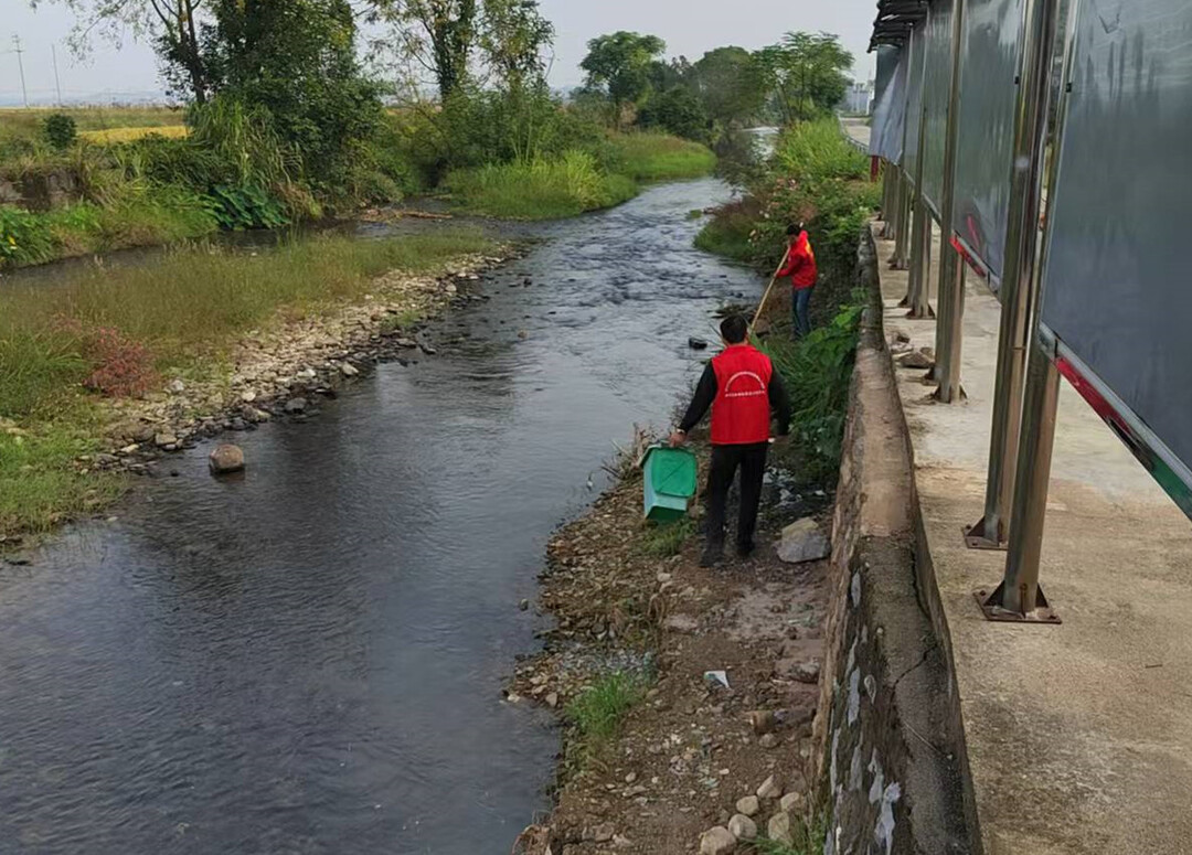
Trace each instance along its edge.
<instances>
[{"instance_id":1,"label":"pale overcast sky above the trees and fields","mask_svg":"<svg viewBox=\"0 0 1192 855\"><path fill-rule=\"evenodd\" d=\"M555 26L551 83L578 85L579 61L588 39L616 30L660 36L669 56L697 60L721 45L750 50L772 44L788 30L838 33L856 57L853 76L868 80L873 56L865 52L876 0L540 0L542 13ZM62 95L68 101L110 102L131 93L160 93L153 50L128 38L117 46L97 39L86 60L73 56L66 39L72 13L45 0L37 11L27 0L0 0L0 104L20 104L21 86L13 36L24 54L25 85L36 104L56 100L52 50L57 51Z\"/></svg>"}]
</instances>

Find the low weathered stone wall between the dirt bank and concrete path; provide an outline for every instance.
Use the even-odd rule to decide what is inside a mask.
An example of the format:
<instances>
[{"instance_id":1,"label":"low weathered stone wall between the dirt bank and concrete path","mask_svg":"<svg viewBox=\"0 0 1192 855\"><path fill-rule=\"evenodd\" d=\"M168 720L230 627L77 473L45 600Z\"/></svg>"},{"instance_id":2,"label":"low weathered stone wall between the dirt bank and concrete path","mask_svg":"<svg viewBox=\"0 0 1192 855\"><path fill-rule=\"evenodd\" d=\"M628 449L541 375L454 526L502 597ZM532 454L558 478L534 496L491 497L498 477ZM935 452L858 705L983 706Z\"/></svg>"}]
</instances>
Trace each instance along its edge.
<instances>
[{"instance_id":1,"label":"low weathered stone wall between the dirt bank and concrete path","mask_svg":"<svg viewBox=\"0 0 1192 855\"><path fill-rule=\"evenodd\" d=\"M832 599L812 780L827 817L825 855L979 853L963 734L937 626L913 451L882 331L876 251L859 249L868 291L833 520ZM925 391L926 394L926 391ZM936 618L938 620L938 617Z\"/></svg>"}]
</instances>

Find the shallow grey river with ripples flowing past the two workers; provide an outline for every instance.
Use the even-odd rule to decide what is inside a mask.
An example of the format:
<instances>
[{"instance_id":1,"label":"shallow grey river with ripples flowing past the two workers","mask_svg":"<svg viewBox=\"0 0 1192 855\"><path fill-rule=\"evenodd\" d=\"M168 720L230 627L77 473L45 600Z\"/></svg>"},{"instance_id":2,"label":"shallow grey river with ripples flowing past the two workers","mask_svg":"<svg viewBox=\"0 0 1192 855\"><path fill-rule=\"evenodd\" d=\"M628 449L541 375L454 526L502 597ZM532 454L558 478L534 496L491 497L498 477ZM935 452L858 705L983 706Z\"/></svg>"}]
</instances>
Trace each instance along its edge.
<instances>
[{"instance_id":1,"label":"shallow grey river with ripples flowing past the two workers","mask_svg":"<svg viewBox=\"0 0 1192 855\"><path fill-rule=\"evenodd\" d=\"M727 195L542 227L439 356L237 436L243 479L199 448L0 564L0 853L505 855L559 748L502 700L541 620L519 601L613 441L669 423L688 336L758 294L691 244Z\"/></svg>"}]
</instances>

